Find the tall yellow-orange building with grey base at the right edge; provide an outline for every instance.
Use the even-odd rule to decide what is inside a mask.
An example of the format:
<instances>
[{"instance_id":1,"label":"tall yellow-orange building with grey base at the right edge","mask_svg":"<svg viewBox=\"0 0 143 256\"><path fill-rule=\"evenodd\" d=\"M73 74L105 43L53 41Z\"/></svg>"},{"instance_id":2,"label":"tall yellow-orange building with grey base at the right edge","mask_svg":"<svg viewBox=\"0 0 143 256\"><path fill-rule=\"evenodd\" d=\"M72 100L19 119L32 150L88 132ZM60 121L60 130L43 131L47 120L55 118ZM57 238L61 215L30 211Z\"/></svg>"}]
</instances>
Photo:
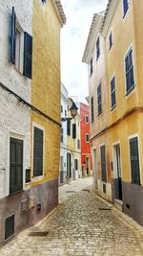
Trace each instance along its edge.
<instances>
[{"instance_id":1,"label":"tall yellow-orange building with grey base at the right edge","mask_svg":"<svg viewBox=\"0 0 143 256\"><path fill-rule=\"evenodd\" d=\"M143 225L143 2L109 1L106 40L112 198Z\"/></svg>"}]
</instances>

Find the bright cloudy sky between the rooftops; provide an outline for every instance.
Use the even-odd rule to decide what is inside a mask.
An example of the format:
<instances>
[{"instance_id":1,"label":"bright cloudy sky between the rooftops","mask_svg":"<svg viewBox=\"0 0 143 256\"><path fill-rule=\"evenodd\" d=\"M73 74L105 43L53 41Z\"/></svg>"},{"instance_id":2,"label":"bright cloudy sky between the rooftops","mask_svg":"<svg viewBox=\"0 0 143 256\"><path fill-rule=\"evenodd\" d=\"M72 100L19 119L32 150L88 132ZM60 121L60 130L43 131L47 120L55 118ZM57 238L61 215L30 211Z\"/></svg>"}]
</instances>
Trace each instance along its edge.
<instances>
[{"instance_id":1,"label":"bright cloudy sky between the rooftops","mask_svg":"<svg viewBox=\"0 0 143 256\"><path fill-rule=\"evenodd\" d=\"M106 10L108 0L61 0L67 23L61 31L61 78L69 96L86 103L88 65L82 62L93 13Z\"/></svg>"}]
</instances>

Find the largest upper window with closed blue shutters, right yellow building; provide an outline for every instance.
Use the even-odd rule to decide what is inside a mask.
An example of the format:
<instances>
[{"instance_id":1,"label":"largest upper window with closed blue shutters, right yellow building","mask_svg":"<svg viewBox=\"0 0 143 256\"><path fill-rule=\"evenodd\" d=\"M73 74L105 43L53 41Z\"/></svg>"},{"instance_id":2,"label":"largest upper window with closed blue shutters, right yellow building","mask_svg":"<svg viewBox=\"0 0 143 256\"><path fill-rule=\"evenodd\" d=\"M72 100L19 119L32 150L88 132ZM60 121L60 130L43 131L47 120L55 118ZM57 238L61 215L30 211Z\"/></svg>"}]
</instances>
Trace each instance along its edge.
<instances>
[{"instance_id":1,"label":"largest upper window with closed blue shutters, right yellow building","mask_svg":"<svg viewBox=\"0 0 143 256\"><path fill-rule=\"evenodd\" d=\"M131 48L125 58L126 69L126 94L128 95L134 88L134 73L133 73L133 49Z\"/></svg>"}]
</instances>

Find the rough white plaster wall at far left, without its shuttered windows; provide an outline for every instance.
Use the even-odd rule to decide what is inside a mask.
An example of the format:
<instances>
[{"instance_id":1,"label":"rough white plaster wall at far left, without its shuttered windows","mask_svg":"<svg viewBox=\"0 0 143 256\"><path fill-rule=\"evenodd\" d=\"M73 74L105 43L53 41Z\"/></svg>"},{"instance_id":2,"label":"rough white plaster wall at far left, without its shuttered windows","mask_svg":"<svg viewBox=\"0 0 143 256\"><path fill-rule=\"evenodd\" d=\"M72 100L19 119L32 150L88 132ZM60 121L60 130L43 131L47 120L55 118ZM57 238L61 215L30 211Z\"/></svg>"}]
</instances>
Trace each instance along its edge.
<instances>
[{"instance_id":1,"label":"rough white plaster wall at far left, without its shuttered windows","mask_svg":"<svg viewBox=\"0 0 143 256\"><path fill-rule=\"evenodd\" d=\"M31 80L17 71L9 61L12 6L23 33L32 34L32 0L0 0L0 82L31 103ZM24 47L24 43L21 43L21 47ZM31 168L30 108L0 86L0 198L10 194L10 137L23 140L23 180L24 189L27 189L25 170Z\"/></svg>"}]
</instances>

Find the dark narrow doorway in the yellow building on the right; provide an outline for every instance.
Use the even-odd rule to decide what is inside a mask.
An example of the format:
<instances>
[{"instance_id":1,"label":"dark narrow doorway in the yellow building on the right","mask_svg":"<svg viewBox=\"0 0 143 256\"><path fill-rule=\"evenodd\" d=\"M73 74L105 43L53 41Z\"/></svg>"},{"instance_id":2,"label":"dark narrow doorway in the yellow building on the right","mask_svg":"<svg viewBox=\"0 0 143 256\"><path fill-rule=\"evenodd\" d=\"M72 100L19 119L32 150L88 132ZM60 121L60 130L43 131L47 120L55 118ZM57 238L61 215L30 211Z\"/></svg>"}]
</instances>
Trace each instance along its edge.
<instances>
[{"instance_id":1,"label":"dark narrow doorway in the yellow building on the right","mask_svg":"<svg viewBox=\"0 0 143 256\"><path fill-rule=\"evenodd\" d=\"M113 146L114 150L114 196L116 199L122 200L122 174L121 174L121 155L120 155L120 145L117 144Z\"/></svg>"}]
</instances>

